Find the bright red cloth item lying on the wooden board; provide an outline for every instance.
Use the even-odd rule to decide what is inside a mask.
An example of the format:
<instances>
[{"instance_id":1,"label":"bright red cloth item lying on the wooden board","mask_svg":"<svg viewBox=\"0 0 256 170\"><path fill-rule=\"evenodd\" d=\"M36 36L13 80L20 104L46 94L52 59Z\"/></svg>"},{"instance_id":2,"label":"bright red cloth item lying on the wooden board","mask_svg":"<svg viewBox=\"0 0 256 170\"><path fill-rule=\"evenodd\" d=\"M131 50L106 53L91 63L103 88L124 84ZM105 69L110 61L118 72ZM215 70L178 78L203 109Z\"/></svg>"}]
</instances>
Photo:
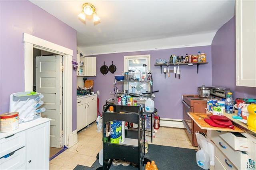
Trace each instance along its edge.
<instances>
[{"instance_id":1,"label":"bright red cloth item lying on the wooden board","mask_svg":"<svg viewBox=\"0 0 256 170\"><path fill-rule=\"evenodd\" d=\"M204 119L204 121L210 126L234 129L234 125L226 116L212 115L210 119Z\"/></svg>"}]
</instances>

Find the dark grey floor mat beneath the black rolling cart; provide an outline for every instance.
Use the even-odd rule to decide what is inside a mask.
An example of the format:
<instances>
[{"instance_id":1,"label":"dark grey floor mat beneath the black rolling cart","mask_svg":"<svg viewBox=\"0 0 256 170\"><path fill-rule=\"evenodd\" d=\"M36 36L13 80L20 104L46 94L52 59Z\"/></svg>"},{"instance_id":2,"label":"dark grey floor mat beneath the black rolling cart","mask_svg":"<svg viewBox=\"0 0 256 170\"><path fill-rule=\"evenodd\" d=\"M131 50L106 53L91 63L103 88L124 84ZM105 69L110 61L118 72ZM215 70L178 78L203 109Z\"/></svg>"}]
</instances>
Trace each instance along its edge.
<instances>
[{"instance_id":1,"label":"dark grey floor mat beneath the black rolling cart","mask_svg":"<svg viewBox=\"0 0 256 170\"><path fill-rule=\"evenodd\" d=\"M196 164L196 151L149 144L146 157L156 162L158 170L203 170ZM99 160L96 160L92 167L77 165L74 170L95 170L98 167L100 167ZM110 170L138 170L138 168L112 165Z\"/></svg>"}]
</instances>

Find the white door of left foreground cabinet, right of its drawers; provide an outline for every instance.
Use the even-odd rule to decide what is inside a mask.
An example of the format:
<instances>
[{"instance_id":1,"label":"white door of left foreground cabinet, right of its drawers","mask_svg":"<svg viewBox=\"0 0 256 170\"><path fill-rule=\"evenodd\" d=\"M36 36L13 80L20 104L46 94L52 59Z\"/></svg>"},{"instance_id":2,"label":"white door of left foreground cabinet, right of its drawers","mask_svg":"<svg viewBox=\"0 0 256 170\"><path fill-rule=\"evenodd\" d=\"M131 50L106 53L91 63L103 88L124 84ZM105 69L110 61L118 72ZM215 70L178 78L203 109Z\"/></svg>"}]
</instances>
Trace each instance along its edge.
<instances>
[{"instance_id":1,"label":"white door of left foreground cabinet, right of its drawers","mask_svg":"<svg viewBox=\"0 0 256 170\"><path fill-rule=\"evenodd\" d=\"M49 169L50 122L26 130L26 136L27 169Z\"/></svg>"}]
</instances>

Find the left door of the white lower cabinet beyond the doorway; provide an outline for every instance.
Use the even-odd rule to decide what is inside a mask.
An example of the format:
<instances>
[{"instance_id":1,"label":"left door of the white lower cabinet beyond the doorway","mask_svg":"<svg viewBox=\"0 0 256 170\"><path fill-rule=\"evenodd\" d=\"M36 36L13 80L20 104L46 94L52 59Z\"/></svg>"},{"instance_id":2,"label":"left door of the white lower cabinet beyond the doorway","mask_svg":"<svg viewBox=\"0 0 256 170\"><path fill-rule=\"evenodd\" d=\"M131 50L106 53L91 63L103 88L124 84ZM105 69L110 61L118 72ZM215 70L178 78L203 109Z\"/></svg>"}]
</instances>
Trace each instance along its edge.
<instances>
[{"instance_id":1,"label":"left door of the white lower cabinet beyond the doorway","mask_svg":"<svg viewBox=\"0 0 256 170\"><path fill-rule=\"evenodd\" d=\"M77 131L81 130L82 128L84 128L87 125L87 117L86 117L86 113L87 113L87 104L82 104L80 106L77 106L76 108L76 128Z\"/></svg>"}]
</instances>

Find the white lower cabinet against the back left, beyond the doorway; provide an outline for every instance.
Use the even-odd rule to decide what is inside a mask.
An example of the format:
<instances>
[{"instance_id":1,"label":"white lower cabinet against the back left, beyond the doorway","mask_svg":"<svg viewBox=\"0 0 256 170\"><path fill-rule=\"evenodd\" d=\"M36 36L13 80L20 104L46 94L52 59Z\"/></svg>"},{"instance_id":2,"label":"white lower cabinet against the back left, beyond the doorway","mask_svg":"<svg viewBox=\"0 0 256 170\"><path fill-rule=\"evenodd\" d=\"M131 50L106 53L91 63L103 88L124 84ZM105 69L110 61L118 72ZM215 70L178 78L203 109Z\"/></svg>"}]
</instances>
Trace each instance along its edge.
<instances>
[{"instance_id":1,"label":"white lower cabinet against the back left, beyond the doorway","mask_svg":"<svg viewBox=\"0 0 256 170\"><path fill-rule=\"evenodd\" d=\"M97 119L97 95L78 99L76 106L76 128L79 131Z\"/></svg>"}]
</instances>

